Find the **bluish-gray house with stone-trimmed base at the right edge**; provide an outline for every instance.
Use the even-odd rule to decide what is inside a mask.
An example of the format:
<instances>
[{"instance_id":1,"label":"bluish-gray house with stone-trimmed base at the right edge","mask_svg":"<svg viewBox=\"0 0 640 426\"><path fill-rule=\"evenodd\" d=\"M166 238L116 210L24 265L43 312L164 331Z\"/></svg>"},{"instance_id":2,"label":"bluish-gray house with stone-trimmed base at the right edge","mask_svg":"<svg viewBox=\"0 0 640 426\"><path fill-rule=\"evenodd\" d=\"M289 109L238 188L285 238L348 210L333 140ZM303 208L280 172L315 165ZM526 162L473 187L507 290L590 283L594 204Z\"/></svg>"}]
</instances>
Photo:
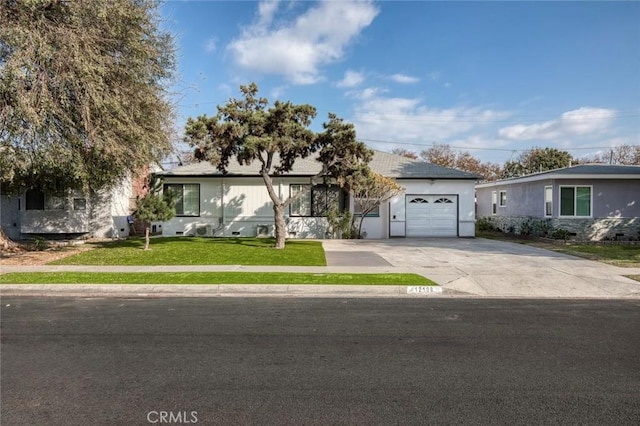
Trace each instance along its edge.
<instances>
[{"instance_id":1,"label":"bluish-gray house with stone-trimmed base at the right edge","mask_svg":"<svg viewBox=\"0 0 640 426\"><path fill-rule=\"evenodd\" d=\"M579 165L476 185L477 215L503 231L548 220L582 240L640 237L640 166Z\"/></svg>"}]
</instances>

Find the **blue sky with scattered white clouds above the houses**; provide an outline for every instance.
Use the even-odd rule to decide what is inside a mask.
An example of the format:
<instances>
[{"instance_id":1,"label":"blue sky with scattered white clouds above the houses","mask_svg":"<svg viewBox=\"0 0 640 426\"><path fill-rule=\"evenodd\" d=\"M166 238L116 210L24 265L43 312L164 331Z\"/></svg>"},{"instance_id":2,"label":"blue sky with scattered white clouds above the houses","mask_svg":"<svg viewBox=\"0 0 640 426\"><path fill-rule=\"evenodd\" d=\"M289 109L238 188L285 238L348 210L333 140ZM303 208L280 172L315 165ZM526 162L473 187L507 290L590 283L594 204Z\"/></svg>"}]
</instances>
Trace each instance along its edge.
<instances>
[{"instance_id":1,"label":"blue sky with scattered white clouds above the houses","mask_svg":"<svg viewBox=\"0 0 640 426\"><path fill-rule=\"evenodd\" d=\"M376 149L640 144L640 2L168 1L178 130L256 82Z\"/></svg>"}]
</instances>

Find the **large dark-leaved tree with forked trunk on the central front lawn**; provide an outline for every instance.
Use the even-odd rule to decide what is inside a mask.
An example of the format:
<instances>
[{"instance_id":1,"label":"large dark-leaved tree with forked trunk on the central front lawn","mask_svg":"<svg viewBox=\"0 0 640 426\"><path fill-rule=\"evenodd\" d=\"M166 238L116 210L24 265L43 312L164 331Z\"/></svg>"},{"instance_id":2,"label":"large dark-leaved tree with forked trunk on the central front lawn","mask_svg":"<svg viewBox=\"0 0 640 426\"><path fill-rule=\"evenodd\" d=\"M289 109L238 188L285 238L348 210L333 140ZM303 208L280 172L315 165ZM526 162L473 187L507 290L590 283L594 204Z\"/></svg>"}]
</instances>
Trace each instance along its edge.
<instances>
[{"instance_id":1,"label":"large dark-leaved tree with forked trunk on the central front lawn","mask_svg":"<svg viewBox=\"0 0 640 426\"><path fill-rule=\"evenodd\" d=\"M240 91L242 98L218 106L215 116L189 118L186 141L195 148L197 158L210 161L223 173L232 160L241 165L259 163L259 174L273 202L275 247L282 249L287 235L284 212L295 198L281 198L273 177L290 172L297 159L318 153L322 171L316 177L344 184L344 176L368 162L372 153L356 141L353 125L334 114L324 123L324 131L316 134L309 128L316 115L313 106L276 101L269 107L267 99L257 96L255 83L240 86Z\"/></svg>"}]
</instances>

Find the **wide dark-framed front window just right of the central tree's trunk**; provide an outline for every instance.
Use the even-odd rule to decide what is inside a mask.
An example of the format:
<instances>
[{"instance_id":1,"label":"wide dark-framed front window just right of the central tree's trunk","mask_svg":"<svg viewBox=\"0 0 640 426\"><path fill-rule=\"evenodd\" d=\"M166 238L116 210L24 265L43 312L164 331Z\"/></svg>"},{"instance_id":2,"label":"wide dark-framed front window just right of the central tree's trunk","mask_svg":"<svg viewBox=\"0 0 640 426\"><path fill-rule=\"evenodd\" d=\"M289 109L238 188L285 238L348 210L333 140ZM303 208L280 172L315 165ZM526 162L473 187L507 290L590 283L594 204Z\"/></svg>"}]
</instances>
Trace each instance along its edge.
<instances>
[{"instance_id":1,"label":"wide dark-framed front window just right of the central tree's trunk","mask_svg":"<svg viewBox=\"0 0 640 426\"><path fill-rule=\"evenodd\" d=\"M289 205L289 216L313 216L324 217L332 207L339 210L343 207L340 189L335 186L301 185L289 186L291 197L304 192L297 200Z\"/></svg>"}]
</instances>

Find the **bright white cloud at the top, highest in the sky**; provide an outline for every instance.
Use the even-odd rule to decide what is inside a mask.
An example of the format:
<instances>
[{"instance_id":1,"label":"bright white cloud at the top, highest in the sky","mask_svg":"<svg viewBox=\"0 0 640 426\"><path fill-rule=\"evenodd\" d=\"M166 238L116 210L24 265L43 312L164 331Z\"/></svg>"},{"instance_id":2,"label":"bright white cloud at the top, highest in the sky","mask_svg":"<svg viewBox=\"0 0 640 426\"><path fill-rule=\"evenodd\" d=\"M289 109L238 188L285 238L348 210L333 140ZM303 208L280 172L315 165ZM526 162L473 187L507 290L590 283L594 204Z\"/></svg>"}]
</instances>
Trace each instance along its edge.
<instances>
[{"instance_id":1,"label":"bright white cloud at the top, highest in the sky","mask_svg":"<svg viewBox=\"0 0 640 426\"><path fill-rule=\"evenodd\" d=\"M321 66L341 60L345 48L379 12L369 0L326 1L276 26L273 21L278 5L261 2L257 21L227 49L240 67L284 75L294 84L321 80Z\"/></svg>"}]
</instances>

